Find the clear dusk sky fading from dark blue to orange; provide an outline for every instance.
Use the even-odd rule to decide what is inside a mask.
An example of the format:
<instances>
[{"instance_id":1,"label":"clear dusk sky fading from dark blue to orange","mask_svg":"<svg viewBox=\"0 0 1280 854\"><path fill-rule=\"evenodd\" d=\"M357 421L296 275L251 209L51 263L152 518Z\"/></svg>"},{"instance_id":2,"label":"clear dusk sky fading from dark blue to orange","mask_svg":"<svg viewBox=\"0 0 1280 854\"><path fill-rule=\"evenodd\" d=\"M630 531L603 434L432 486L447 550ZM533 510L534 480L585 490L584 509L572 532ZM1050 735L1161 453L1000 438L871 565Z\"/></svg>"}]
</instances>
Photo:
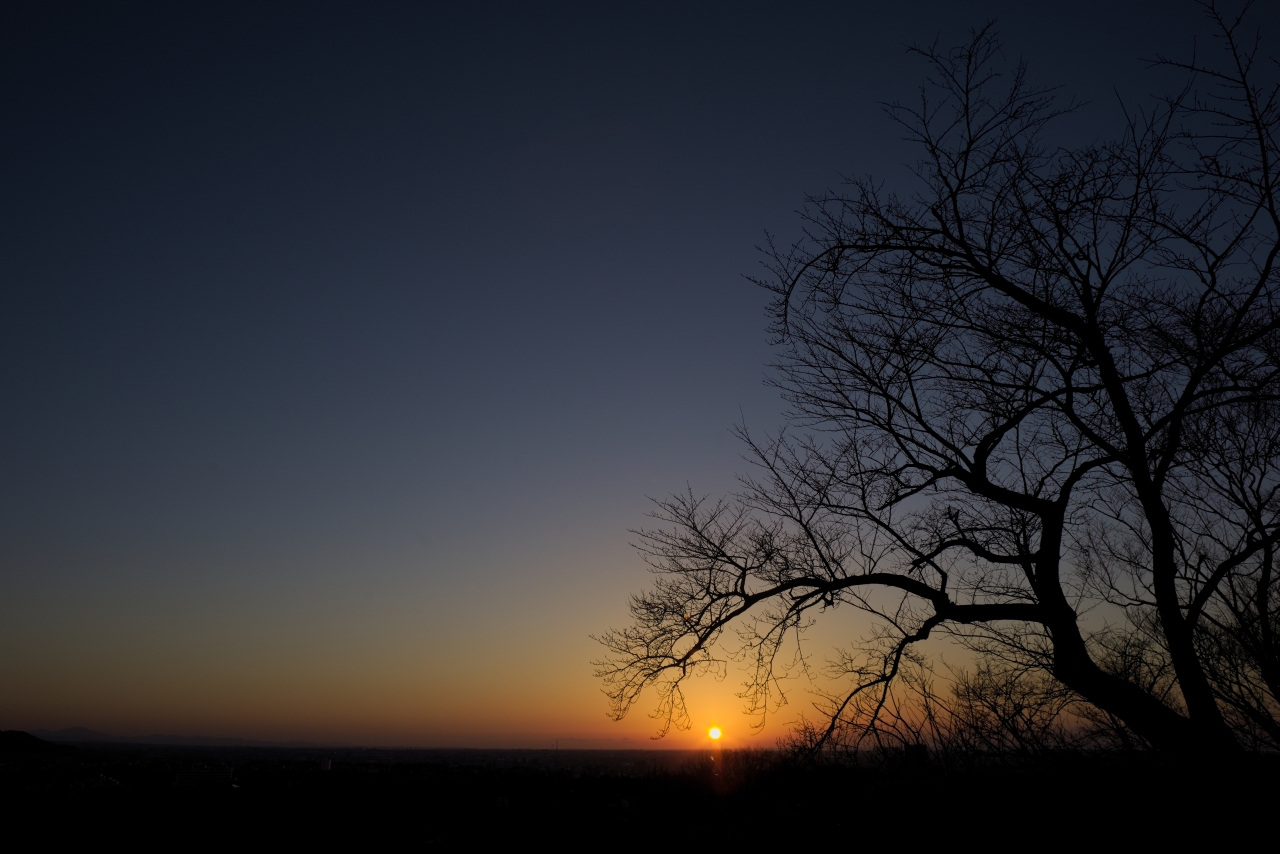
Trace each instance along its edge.
<instances>
[{"instance_id":1,"label":"clear dusk sky fading from dark blue to orange","mask_svg":"<svg viewBox=\"0 0 1280 854\"><path fill-rule=\"evenodd\" d=\"M0 729L655 746L591 640L777 429L767 233L996 20L1112 133L1190 3L6 4ZM1277 15L1253 18L1268 44ZM820 635L852 640L856 626ZM845 634L842 634L845 632ZM733 673L691 690L771 745Z\"/></svg>"}]
</instances>

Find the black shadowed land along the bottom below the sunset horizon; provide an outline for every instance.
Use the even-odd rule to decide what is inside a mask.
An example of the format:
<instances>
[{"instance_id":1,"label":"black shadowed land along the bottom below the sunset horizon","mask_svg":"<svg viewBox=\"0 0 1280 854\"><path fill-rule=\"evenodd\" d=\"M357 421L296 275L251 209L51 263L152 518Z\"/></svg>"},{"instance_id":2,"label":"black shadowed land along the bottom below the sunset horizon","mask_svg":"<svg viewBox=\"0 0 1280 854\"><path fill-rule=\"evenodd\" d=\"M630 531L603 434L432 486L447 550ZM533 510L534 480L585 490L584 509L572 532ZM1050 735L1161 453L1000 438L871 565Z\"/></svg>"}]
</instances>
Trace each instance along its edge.
<instances>
[{"instance_id":1,"label":"black shadowed land along the bottom below the sunset horizon","mask_svg":"<svg viewBox=\"0 0 1280 854\"><path fill-rule=\"evenodd\" d=\"M47 842L1132 848L1270 836L1280 762L1149 754L797 766L772 753L58 745L4 734L5 827Z\"/></svg>"}]
</instances>

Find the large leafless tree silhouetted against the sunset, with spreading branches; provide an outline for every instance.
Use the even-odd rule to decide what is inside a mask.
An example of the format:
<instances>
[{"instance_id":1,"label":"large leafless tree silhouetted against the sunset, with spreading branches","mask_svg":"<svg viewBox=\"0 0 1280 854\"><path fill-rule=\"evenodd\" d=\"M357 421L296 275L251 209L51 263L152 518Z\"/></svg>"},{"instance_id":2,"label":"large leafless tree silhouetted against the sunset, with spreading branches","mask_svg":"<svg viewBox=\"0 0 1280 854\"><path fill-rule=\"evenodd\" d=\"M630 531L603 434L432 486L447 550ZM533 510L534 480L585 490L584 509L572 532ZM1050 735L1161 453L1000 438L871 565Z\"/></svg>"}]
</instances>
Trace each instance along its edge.
<instances>
[{"instance_id":1,"label":"large leafless tree silhouetted against the sunset, with spreading branches","mask_svg":"<svg viewBox=\"0 0 1280 854\"><path fill-rule=\"evenodd\" d=\"M740 431L740 494L639 531L657 581L602 638L616 717L652 688L660 732L687 726L684 680L733 654L767 713L852 607L878 629L829 663L814 746L919 723L895 684L934 632L1137 743L1280 744L1280 104L1242 19L1206 13L1213 61L1158 60L1187 87L1076 149L989 27L916 51L920 99L888 110L919 189L852 181L768 247L792 425Z\"/></svg>"}]
</instances>

